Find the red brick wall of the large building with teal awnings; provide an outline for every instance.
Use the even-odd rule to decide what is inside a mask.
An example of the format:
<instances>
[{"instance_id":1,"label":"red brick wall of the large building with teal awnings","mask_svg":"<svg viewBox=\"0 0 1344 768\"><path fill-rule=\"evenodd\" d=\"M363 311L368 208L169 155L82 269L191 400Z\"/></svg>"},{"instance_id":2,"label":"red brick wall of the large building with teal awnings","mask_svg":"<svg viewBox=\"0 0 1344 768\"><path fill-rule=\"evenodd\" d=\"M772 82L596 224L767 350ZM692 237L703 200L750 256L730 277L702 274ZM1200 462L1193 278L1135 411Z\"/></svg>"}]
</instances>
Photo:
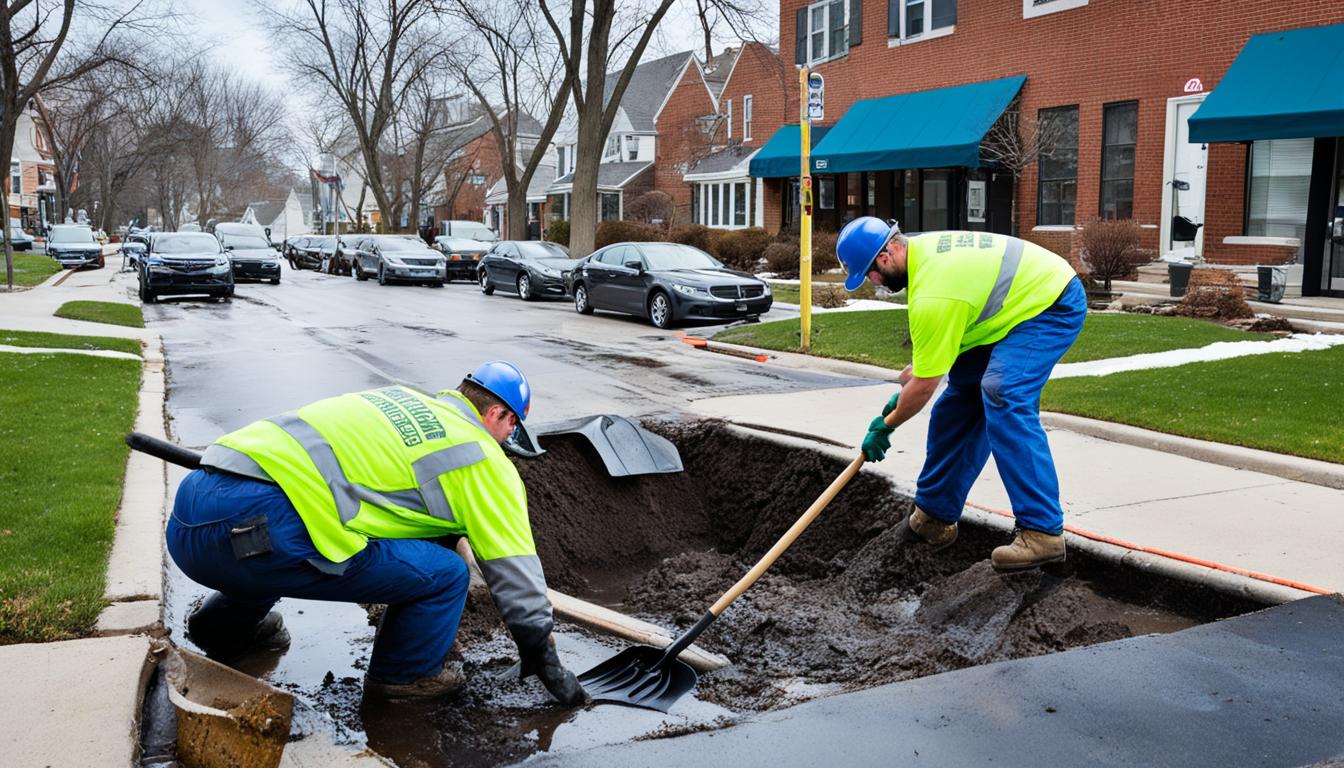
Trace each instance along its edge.
<instances>
[{"instance_id":1,"label":"red brick wall of the large building with teal awnings","mask_svg":"<svg viewBox=\"0 0 1344 768\"><path fill-rule=\"evenodd\" d=\"M804 0L780 3L780 39L789 63L794 61L796 12L805 5ZM827 79L828 124L860 98L1025 74L1024 114L1078 106L1079 225L1098 215L1099 208L1102 106L1137 101L1134 218L1157 225L1167 194L1167 100L1184 95L1189 78L1200 78L1206 91L1212 90L1254 34L1339 22L1344 22L1344 3L1339 0L1091 0L1083 8L1035 19L1023 19L1017 0L960 0L953 34L887 47L887 1L867 0L863 42L844 58L816 69ZM786 114L797 113L797 85L790 83ZM1208 257L1238 253L1222 247L1222 238L1245 234L1245 147L1210 148L1204 234ZM1027 234L1035 221L1032 167L1019 179L1017 223ZM1157 247L1159 230L1144 233L1144 246Z\"/></svg>"}]
</instances>

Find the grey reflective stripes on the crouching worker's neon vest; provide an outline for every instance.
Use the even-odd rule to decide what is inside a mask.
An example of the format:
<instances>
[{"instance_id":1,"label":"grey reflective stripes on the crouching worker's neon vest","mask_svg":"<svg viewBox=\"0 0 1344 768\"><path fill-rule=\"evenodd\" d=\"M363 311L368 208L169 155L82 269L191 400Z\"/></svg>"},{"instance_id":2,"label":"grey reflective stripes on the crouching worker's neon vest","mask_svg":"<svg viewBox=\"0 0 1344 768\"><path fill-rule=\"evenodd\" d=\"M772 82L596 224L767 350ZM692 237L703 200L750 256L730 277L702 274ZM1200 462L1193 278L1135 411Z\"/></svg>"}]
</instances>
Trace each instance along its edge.
<instances>
[{"instance_id":1,"label":"grey reflective stripes on the crouching worker's neon vest","mask_svg":"<svg viewBox=\"0 0 1344 768\"><path fill-rule=\"evenodd\" d=\"M355 519L355 515L359 514L360 502L379 507L402 507L454 522L452 506L448 503L448 495L444 492L444 484L438 480L438 475L485 460L485 452L478 443L450 445L422 456L413 464L418 488L375 491L367 486L351 483L340 461L336 459L336 452L332 449L331 443L327 443L327 438L313 425L292 413L277 416L267 421L285 430L308 453L313 467L317 468L317 473L321 475L323 482L332 491L332 499L336 502L336 514L341 525L348 525L349 521ZM235 453L238 452L235 451ZM227 469L227 467L220 468ZM261 468L258 467L258 469ZM438 472L430 475L430 469L438 469Z\"/></svg>"}]
</instances>

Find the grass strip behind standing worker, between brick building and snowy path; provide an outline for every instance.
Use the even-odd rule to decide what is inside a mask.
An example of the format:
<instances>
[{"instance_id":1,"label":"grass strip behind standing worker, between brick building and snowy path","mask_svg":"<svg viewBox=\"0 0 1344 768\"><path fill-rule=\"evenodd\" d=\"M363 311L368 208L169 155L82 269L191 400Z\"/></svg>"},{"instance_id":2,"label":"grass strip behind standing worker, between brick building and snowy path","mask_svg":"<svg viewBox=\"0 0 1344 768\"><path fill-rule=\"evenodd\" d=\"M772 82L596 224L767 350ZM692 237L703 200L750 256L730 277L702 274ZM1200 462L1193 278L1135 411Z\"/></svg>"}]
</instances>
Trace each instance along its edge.
<instances>
[{"instance_id":1,"label":"grass strip behind standing worker, between brick building and snowy path","mask_svg":"<svg viewBox=\"0 0 1344 768\"><path fill-rule=\"evenodd\" d=\"M730 342L766 350L798 351L798 320L777 320L720 331L716 342ZM1122 358L1140 352L1161 352L1203 347L1214 342L1270 339L1269 334L1246 334L1187 317L1150 315L1087 315L1083 332L1063 362L1078 363ZM836 312L812 317L812 354L890 369L910 362L910 330L905 309Z\"/></svg>"}]
</instances>

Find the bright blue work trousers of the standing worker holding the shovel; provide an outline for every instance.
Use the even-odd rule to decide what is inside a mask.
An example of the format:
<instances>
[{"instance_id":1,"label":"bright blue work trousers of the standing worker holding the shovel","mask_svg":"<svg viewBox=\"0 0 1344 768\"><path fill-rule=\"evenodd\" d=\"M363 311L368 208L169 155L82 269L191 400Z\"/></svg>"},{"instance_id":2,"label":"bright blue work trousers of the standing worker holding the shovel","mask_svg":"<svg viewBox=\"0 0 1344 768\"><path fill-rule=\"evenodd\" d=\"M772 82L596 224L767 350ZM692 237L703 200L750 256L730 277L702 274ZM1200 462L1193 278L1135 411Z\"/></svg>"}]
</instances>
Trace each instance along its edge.
<instances>
[{"instance_id":1,"label":"bright blue work trousers of the standing worker holding the shovel","mask_svg":"<svg viewBox=\"0 0 1344 768\"><path fill-rule=\"evenodd\" d=\"M921 510L937 521L957 522L992 452L1017 526L1063 533L1055 460L1040 426L1040 390L1078 338L1086 315L1087 296L1074 278L1048 309L999 342L957 356L929 417L915 492Z\"/></svg>"}]
</instances>

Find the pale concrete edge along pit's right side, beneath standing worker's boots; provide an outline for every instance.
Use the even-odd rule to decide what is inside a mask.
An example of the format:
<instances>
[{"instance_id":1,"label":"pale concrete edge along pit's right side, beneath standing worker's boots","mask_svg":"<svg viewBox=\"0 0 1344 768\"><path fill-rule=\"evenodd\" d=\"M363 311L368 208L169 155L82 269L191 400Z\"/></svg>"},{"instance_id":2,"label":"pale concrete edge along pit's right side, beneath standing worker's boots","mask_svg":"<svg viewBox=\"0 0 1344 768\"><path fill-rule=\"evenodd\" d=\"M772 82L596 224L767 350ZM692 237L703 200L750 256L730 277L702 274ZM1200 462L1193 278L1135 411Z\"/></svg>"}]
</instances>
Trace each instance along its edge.
<instances>
[{"instance_id":1,"label":"pale concrete edge along pit's right side, beneath standing worker's boots","mask_svg":"<svg viewBox=\"0 0 1344 768\"><path fill-rule=\"evenodd\" d=\"M790 437L778 434L774 432L765 432L761 429L753 429L749 426L742 426L726 422L728 430L742 434L746 437L754 437L759 440L770 440L773 443L788 445L790 448L804 448L809 451L816 451L827 456L843 461L853 460L853 452L848 448L836 448L832 445L825 445L821 443L814 443L812 440L801 437ZM864 468L862 472L870 472L875 476L880 476L887 480L891 487L900 495L914 498L915 488L911 483L900 483L876 469ZM966 507L962 512L962 521L972 525L1000 530L1012 531L1013 522L1011 518L1003 515L996 515L984 510L977 510L974 507ZM1185 562L1180 560L1173 560L1169 557L1163 557L1145 551L1136 551L1124 546L1106 543L1095 541L1083 535L1074 533L1064 533L1064 541L1068 547L1077 551L1087 553L1089 555L1097 557L1098 560L1121 565L1124 568L1133 568L1137 570L1144 570L1149 573L1156 573L1167 578L1175 578L1184 581L1195 586L1204 586L1219 592L1222 594L1230 594L1232 597L1243 597L1254 600L1257 603L1263 603L1266 605L1277 605L1279 603L1289 603L1292 600L1300 600L1302 597L1312 597L1314 592L1306 592L1302 589L1294 589L1290 586L1282 586L1273 584L1270 581L1263 581L1259 578L1251 578L1249 576L1242 576L1238 573L1228 573L1224 570L1218 570L1215 568L1207 568L1203 565L1196 565L1192 562Z\"/></svg>"}]
</instances>

